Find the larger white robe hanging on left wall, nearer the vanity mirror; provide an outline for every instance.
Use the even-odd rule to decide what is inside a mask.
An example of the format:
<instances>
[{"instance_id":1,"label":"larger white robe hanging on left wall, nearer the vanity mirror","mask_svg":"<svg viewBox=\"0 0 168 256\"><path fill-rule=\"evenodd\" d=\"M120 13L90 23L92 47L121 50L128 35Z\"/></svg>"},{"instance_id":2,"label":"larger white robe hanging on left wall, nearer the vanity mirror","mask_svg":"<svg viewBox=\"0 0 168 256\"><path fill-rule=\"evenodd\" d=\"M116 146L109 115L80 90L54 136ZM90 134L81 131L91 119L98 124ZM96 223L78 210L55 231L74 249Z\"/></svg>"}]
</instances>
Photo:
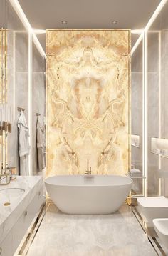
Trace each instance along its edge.
<instances>
[{"instance_id":1,"label":"larger white robe hanging on left wall, nearer the vanity mirror","mask_svg":"<svg viewBox=\"0 0 168 256\"><path fill-rule=\"evenodd\" d=\"M19 157L20 157L20 174L28 175L28 154L30 153L29 145L29 129L26 122L26 117L21 111L21 115L18 120L19 129Z\"/></svg>"}]
</instances>

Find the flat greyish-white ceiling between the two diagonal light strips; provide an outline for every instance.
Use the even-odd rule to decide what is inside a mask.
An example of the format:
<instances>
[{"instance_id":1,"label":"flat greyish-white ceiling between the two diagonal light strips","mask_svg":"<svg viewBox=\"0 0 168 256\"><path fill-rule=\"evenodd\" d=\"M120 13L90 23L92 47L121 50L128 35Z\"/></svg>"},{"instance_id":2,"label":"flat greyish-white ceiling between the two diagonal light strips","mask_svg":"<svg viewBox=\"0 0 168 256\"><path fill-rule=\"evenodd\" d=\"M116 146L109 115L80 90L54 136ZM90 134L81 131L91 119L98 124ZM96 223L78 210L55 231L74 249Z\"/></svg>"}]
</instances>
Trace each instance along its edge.
<instances>
[{"instance_id":1,"label":"flat greyish-white ceiling between the two diagonal light strips","mask_svg":"<svg viewBox=\"0 0 168 256\"><path fill-rule=\"evenodd\" d=\"M34 29L142 29L160 0L19 0ZM67 25L61 21L68 21ZM117 25L111 21L117 20ZM38 36L45 49L45 34ZM132 44L137 36L132 36Z\"/></svg>"}]
</instances>

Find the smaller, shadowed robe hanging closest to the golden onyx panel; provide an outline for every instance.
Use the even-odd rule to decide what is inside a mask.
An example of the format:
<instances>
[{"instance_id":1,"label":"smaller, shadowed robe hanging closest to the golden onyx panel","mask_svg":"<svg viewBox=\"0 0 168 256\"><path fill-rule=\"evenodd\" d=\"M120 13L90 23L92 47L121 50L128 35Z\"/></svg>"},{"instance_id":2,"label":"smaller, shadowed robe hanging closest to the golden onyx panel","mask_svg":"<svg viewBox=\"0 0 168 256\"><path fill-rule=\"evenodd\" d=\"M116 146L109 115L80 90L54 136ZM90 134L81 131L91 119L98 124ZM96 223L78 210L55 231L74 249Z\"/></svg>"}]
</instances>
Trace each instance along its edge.
<instances>
[{"instance_id":1,"label":"smaller, shadowed robe hanging closest to the golden onyx panel","mask_svg":"<svg viewBox=\"0 0 168 256\"><path fill-rule=\"evenodd\" d=\"M38 117L37 119L36 134L38 172L41 172L45 168L45 128L41 122L41 117Z\"/></svg>"}]
</instances>

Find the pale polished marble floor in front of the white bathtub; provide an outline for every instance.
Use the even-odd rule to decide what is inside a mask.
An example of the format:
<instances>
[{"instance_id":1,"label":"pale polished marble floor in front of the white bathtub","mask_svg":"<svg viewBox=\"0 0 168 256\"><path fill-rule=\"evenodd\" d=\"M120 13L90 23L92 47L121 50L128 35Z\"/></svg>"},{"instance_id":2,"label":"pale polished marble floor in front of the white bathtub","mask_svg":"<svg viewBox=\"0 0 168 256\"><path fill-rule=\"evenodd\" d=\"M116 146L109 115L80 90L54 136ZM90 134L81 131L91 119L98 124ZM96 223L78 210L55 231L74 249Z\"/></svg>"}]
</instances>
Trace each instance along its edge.
<instances>
[{"instance_id":1,"label":"pale polished marble floor in front of the white bathtub","mask_svg":"<svg viewBox=\"0 0 168 256\"><path fill-rule=\"evenodd\" d=\"M126 204L112 215L65 215L51 202L28 251L28 256L111 255L157 255Z\"/></svg>"}]
</instances>

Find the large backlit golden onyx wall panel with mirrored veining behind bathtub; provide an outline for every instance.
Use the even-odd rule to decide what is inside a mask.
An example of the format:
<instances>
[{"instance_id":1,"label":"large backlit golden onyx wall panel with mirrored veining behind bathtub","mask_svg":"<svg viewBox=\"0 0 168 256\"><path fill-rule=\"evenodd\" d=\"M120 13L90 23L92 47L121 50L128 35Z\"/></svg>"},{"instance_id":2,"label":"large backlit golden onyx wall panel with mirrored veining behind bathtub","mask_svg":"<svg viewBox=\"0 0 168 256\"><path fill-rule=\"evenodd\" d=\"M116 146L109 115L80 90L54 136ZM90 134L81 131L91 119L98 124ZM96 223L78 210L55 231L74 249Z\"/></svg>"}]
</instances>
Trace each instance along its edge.
<instances>
[{"instance_id":1,"label":"large backlit golden onyx wall panel with mirrored veining behind bathtub","mask_svg":"<svg viewBox=\"0 0 168 256\"><path fill-rule=\"evenodd\" d=\"M48 30L48 174L125 174L130 30Z\"/></svg>"}]
</instances>

